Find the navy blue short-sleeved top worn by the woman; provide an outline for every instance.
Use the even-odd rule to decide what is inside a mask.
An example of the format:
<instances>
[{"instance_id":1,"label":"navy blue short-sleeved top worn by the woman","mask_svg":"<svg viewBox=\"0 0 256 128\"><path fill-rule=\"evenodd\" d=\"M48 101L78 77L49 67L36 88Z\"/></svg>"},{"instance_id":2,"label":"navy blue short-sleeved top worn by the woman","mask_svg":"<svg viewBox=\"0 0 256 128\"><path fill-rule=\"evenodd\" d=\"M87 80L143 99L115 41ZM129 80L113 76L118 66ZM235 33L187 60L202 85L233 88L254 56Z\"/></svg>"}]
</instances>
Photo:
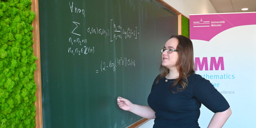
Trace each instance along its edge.
<instances>
[{"instance_id":1,"label":"navy blue short-sleeved top worn by the woman","mask_svg":"<svg viewBox=\"0 0 256 128\"><path fill-rule=\"evenodd\" d=\"M153 128L200 128L198 118L201 103L214 113L229 108L227 100L209 80L195 73L188 76L187 80L185 90L172 93L174 79L164 77L157 84L155 79L147 99L148 105L156 112ZM173 88L174 92L177 87L182 86L177 84Z\"/></svg>"}]
</instances>

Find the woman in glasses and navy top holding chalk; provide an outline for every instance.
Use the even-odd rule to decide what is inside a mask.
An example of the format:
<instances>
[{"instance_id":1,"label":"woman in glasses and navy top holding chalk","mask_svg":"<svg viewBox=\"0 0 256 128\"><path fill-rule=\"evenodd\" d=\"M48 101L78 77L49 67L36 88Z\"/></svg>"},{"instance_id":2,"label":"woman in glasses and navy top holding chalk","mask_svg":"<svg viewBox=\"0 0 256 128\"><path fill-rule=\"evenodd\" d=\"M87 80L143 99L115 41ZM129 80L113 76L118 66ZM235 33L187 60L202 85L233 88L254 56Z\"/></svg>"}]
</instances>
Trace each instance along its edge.
<instances>
[{"instance_id":1,"label":"woman in glasses and navy top holding chalk","mask_svg":"<svg viewBox=\"0 0 256 128\"><path fill-rule=\"evenodd\" d=\"M214 112L208 128L221 128L231 115L226 99L210 81L195 74L191 40L172 36L161 49L162 65L148 96L148 105L118 97L119 108L155 119L153 128L200 128L201 104Z\"/></svg>"}]
</instances>

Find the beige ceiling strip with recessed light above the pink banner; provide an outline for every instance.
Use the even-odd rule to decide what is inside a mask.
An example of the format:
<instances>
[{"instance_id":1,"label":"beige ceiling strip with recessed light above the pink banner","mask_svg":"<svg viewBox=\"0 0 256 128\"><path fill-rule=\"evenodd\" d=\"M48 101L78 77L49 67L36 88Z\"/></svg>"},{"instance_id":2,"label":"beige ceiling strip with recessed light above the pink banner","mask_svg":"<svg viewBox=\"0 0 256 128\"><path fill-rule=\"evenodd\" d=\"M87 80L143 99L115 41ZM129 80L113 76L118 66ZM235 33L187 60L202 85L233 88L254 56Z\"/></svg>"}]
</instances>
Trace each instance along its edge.
<instances>
[{"instance_id":1,"label":"beige ceiling strip with recessed light above the pink banner","mask_svg":"<svg viewBox=\"0 0 256 128\"><path fill-rule=\"evenodd\" d=\"M256 12L256 0L210 0L217 13ZM242 11L242 8L248 8Z\"/></svg>"}]
</instances>

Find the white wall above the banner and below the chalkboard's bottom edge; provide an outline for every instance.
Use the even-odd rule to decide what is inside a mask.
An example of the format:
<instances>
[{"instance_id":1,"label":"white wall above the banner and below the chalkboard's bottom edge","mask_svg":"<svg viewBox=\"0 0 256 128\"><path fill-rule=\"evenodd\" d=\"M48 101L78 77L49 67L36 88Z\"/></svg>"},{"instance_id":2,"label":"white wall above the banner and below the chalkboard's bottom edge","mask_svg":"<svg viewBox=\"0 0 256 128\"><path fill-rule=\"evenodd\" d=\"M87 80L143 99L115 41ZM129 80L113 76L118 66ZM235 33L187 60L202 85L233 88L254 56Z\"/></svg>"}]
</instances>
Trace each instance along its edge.
<instances>
[{"instance_id":1,"label":"white wall above the banner and below the chalkboard's bottom edge","mask_svg":"<svg viewBox=\"0 0 256 128\"><path fill-rule=\"evenodd\" d=\"M189 18L189 14L217 13L209 0L163 0L174 9ZM154 119L146 122L139 128L152 128Z\"/></svg>"}]
</instances>

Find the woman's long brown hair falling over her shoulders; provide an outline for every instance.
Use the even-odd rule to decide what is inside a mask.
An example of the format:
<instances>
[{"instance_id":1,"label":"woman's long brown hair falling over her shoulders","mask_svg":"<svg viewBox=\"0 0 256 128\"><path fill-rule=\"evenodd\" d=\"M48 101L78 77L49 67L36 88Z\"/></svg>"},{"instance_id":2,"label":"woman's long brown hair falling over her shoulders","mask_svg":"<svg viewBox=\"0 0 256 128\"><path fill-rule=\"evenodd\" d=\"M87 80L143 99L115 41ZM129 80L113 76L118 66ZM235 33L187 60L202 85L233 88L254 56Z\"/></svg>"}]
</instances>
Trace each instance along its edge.
<instances>
[{"instance_id":1,"label":"woman's long brown hair falling over her shoulders","mask_svg":"<svg viewBox=\"0 0 256 128\"><path fill-rule=\"evenodd\" d=\"M177 46L179 57L176 62L176 67L179 72L179 77L174 80L174 82L171 86L172 93L177 93L178 91L183 91L186 89L186 87L188 85L187 77L189 75L195 73L194 52L193 52L192 41L189 38L187 38L183 35L173 35L171 38L176 38L179 42L179 44ZM156 84L159 82L160 79L162 79L169 73L169 69L160 65L160 72L161 72L161 74L159 74L157 76ZM174 92L173 88L177 84L180 84L182 87L180 87L180 88L177 87L177 91Z\"/></svg>"}]
</instances>

